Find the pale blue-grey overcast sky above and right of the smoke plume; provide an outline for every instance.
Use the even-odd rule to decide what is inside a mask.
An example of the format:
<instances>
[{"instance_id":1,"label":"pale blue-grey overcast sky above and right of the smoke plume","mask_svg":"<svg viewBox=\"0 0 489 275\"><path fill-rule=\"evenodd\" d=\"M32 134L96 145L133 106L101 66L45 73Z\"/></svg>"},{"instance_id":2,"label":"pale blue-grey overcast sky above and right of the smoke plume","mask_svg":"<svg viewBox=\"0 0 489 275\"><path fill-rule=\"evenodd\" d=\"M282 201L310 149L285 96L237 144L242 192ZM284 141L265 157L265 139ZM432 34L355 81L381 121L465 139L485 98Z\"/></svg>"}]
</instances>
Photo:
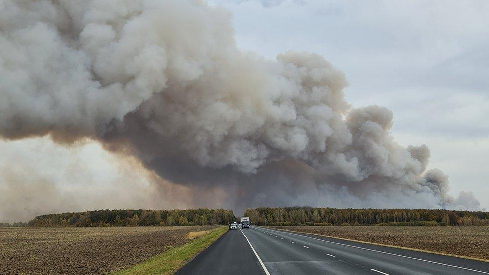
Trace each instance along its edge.
<instances>
[{"instance_id":1,"label":"pale blue-grey overcast sky above and right of the smoke plume","mask_svg":"<svg viewBox=\"0 0 489 275\"><path fill-rule=\"evenodd\" d=\"M231 10L236 42L274 59L323 55L345 72L353 107L394 112L404 146L426 144L453 194L489 207L489 2L210 1Z\"/></svg>"}]
</instances>

